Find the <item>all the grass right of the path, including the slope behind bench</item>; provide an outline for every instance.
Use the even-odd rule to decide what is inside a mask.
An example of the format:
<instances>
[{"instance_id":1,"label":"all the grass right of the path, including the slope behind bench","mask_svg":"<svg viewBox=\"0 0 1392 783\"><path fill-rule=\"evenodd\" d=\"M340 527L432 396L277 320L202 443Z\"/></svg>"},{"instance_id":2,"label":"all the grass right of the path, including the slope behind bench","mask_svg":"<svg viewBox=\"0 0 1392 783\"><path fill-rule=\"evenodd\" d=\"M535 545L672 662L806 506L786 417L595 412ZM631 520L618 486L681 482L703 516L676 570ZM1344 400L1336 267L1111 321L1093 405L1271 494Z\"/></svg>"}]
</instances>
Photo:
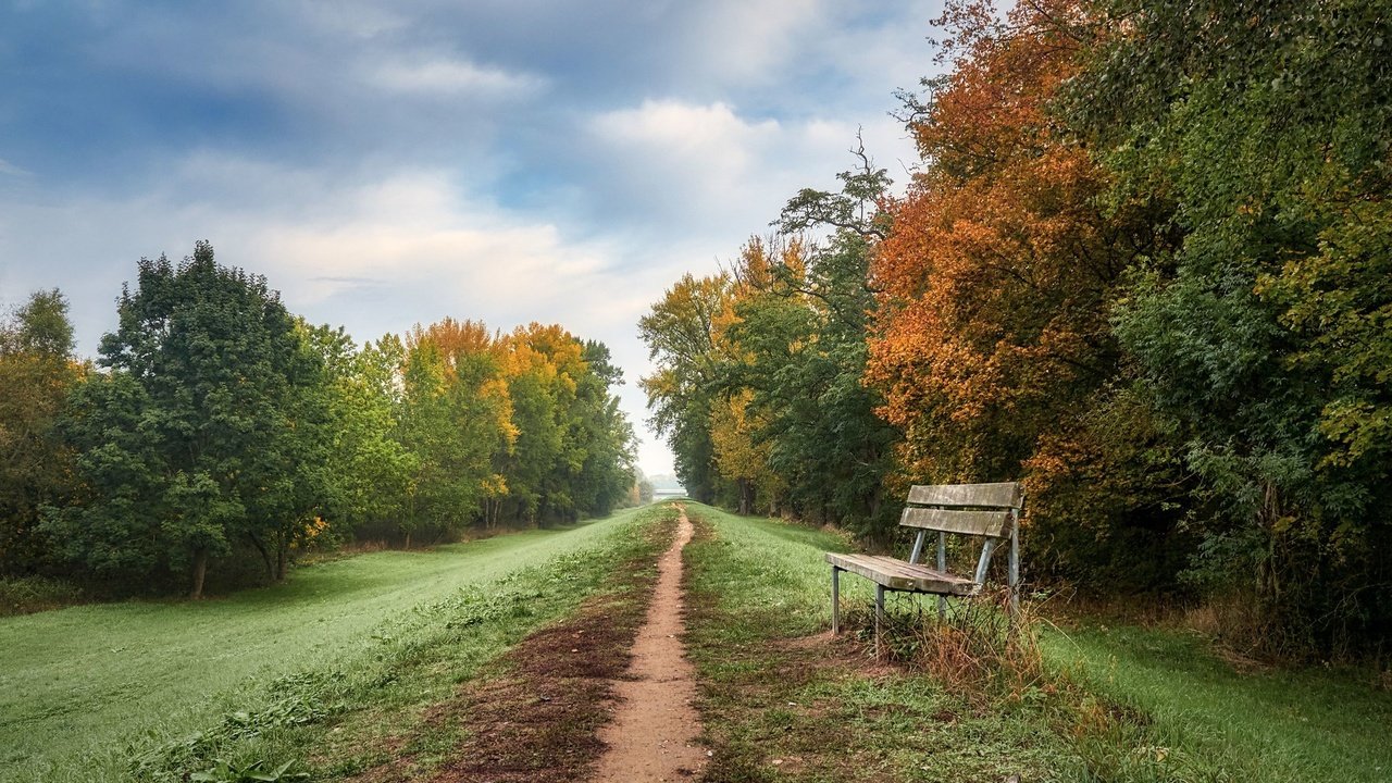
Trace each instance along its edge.
<instances>
[{"instance_id":1,"label":"all the grass right of the path, including the slope behind bench","mask_svg":"<svg viewBox=\"0 0 1392 783\"><path fill-rule=\"evenodd\" d=\"M1392 698L1328 672L1237 673L1190 635L1050 630L1047 674L944 684L827 628L845 542L690 506L692 656L707 780L1339 780L1392 777ZM867 606L866 580L844 578ZM913 599L903 599L913 600ZM869 612L862 612L867 617Z\"/></svg>"}]
</instances>

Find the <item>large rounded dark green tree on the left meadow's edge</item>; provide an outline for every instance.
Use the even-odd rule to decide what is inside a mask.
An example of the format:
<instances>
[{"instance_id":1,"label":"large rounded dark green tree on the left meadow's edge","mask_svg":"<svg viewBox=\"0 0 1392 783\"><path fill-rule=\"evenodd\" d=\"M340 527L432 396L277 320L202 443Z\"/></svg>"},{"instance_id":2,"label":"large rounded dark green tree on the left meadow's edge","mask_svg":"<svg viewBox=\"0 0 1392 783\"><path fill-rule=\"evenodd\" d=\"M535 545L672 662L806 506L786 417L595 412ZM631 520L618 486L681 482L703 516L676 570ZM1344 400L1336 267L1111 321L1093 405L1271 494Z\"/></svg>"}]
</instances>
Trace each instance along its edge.
<instances>
[{"instance_id":1,"label":"large rounded dark green tree on the left meadow's edge","mask_svg":"<svg viewBox=\"0 0 1392 783\"><path fill-rule=\"evenodd\" d=\"M308 471L323 380L295 322L263 277L198 242L174 265L141 259L120 326L67 422L85 485L46 529L97 571L163 566L199 598L210 561L248 538L284 546L320 502Z\"/></svg>"}]
</instances>

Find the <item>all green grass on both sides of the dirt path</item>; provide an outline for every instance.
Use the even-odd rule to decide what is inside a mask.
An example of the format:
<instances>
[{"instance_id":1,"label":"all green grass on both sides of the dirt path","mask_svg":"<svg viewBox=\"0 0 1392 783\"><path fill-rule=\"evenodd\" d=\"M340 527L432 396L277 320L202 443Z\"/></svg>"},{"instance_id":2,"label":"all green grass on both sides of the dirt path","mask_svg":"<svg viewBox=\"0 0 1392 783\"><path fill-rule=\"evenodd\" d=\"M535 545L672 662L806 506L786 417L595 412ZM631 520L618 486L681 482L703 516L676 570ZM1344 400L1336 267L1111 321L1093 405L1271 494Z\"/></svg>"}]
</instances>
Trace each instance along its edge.
<instances>
[{"instance_id":1,"label":"all green grass on both sides of the dirt path","mask_svg":"<svg viewBox=\"0 0 1392 783\"><path fill-rule=\"evenodd\" d=\"M1389 779L1392 698L1366 673L1237 669L1180 630L1043 623L1037 677L944 679L871 658L864 580L844 578L849 630L825 634L821 556L845 538L688 509L707 783ZM429 779L461 740L436 708L612 589L621 564L650 564L665 542L644 532L672 515L362 555L221 599L3 619L0 780L252 780L283 766L303 776L284 780L342 780L383 765Z\"/></svg>"}]
</instances>

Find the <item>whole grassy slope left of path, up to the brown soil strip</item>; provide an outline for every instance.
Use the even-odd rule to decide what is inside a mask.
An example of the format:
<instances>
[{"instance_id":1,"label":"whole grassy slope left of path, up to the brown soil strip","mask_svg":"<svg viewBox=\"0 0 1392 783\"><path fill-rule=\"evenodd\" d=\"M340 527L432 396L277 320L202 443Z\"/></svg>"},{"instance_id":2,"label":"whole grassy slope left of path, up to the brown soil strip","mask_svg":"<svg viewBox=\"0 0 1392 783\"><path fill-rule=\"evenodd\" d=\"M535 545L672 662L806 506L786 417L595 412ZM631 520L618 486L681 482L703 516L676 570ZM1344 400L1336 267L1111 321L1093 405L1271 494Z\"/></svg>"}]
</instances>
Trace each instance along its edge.
<instances>
[{"instance_id":1,"label":"whole grassy slope left of path, up to the brown soil strip","mask_svg":"<svg viewBox=\"0 0 1392 783\"><path fill-rule=\"evenodd\" d=\"M401 754L429 768L451 740L422 712L643 556L635 529L660 514L365 555L217 600L0 619L0 780L178 780L214 758L316 779Z\"/></svg>"}]
</instances>

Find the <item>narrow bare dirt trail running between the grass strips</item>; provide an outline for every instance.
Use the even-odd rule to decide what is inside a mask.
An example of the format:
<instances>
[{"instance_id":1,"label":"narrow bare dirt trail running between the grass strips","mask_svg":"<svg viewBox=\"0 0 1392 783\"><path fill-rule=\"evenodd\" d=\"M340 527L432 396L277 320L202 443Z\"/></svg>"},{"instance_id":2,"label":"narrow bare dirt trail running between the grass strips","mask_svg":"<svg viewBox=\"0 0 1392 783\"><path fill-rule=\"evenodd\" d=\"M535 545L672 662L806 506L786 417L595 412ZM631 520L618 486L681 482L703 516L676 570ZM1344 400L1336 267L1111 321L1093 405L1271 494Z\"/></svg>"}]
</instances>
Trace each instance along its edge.
<instances>
[{"instance_id":1,"label":"narrow bare dirt trail running between the grass strips","mask_svg":"<svg viewBox=\"0 0 1392 783\"><path fill-rule=\"evenodd\" d=\"M682 548L692 539L692 524L678 509L677 541L658 561L653 603L633 642L631 679L615 683L614 720L600 730L608 750L596 783L683 780L706 762L706 751L696 745L696 672L681 641Z\"/></svg>"}]
</instances>

